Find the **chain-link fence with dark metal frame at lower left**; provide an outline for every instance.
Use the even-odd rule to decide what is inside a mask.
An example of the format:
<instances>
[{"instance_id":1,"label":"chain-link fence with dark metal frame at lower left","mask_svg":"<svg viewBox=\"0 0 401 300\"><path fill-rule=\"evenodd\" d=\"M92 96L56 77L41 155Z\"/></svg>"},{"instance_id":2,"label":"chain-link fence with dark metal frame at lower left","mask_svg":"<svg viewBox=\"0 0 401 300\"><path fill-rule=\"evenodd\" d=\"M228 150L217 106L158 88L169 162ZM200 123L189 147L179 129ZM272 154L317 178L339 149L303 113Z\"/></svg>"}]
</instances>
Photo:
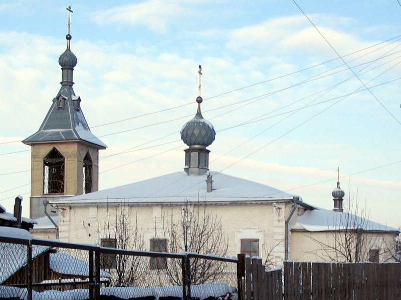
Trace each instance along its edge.
<instances>
[{"instance_id":1,"label":"chain-link fence with dark metal frame at lower left","mask_svg":"<svg viewBox=\"0 0 401 300\"><path fill-rule=\"evenodd\" d=\"M0 237L0 298L238 298L238 259Z\"/></svg>"}]
</instances>

